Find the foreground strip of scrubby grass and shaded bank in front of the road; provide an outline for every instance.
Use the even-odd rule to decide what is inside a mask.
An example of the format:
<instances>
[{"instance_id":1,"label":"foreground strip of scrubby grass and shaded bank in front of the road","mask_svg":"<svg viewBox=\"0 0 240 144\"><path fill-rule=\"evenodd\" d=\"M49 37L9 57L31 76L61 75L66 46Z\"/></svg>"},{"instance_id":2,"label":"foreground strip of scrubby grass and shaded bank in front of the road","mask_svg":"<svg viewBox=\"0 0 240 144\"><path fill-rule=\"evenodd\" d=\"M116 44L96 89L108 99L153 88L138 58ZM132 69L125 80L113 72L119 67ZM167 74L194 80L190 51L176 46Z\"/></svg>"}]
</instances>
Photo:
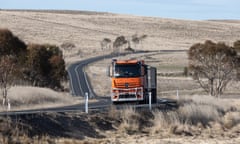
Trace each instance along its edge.
<instances>
[{"instance_id":1,"label":"foreground strip of scrubby grass and shaded bank in front of the road","mask_svg":"<svg viewBox=\"0 0 240 144\"><path fill-rule=\"evenodd\" d=\"M90 138L89 143L110 143L142 134L156 137L158 141L176 136L236 139L240 136L240 109L230 100L193 96L180 99L178 109L161 107L149 111L130 106L116 109L112 106L107 111L90 111L89 114L11 116L1 118L0 125L0 142L5 143L59 143L59 137L62 142L68 142L67 138L71 137L72 142L86 142Z\"/></svg>"}]
</instances>

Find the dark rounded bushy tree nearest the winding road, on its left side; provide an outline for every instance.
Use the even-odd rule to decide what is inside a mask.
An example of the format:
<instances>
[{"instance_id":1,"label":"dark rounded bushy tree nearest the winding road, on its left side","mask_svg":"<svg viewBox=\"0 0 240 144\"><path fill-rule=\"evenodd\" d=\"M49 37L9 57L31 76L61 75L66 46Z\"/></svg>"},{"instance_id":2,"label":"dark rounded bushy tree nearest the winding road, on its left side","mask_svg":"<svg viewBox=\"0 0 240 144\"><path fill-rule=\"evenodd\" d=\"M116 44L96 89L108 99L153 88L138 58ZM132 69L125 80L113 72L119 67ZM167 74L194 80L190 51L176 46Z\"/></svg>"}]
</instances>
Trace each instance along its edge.
<instances>
[{"instance_id":1,"label":"dark rounded bushy tree nearest the winding road, on its left side","mask_svg":"<svg viewBox=\"0 0 240 144\"><path fill-rule=\"evenodd\" d=\"M30 44L25 75L34 86L61 88L66 77L61 50L54 45Z\"/></svg>"}]
</instances>

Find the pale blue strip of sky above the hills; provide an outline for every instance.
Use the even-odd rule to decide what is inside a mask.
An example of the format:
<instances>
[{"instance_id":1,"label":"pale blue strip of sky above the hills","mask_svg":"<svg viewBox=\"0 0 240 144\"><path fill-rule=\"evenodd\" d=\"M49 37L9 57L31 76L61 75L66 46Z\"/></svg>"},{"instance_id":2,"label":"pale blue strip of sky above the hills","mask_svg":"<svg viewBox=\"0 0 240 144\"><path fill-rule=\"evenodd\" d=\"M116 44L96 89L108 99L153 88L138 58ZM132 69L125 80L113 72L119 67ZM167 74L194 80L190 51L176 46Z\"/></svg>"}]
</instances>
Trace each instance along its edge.
<instances>
[{"instance_id":1,"label":"pale blue strip of sky above the hills","mask_svg":"<svg viewBox=\"0 0 240 144\"><path fill-rule=\"evenodd\" d=\"M0 0L0 9L87 10L174 19L240 19L240 0Z\"/></svg>"}]
</instances>

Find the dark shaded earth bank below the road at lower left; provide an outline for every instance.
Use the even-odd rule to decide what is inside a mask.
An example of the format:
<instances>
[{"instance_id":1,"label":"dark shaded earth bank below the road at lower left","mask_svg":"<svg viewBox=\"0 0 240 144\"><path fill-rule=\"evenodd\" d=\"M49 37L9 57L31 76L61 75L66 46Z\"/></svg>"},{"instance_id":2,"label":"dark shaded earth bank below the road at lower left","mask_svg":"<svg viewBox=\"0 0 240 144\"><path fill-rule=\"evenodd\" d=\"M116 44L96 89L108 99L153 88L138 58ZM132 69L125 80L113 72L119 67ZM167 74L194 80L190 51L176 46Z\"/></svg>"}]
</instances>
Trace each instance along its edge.
<instances>
[{"instance_id":1,"label":"dark shaded earth bank below the road at lower left","mask_svg":"<svg viewBox=\"0 0 240 144\"><path fill-rule=\"evenodd\" d=\"M13 128L18 129L21 134L29 137L64 137L73 139L104 138L97 131L108 129L113 130L112 123L98 118L95 114L86 115L83 113L42 113L9 116L2 118L2 124L10 126L8 134L13 135ZM6 129L2 129L4 133ZM5 131L6 133L6 131Z\"/></svg>"}]
</instances>

